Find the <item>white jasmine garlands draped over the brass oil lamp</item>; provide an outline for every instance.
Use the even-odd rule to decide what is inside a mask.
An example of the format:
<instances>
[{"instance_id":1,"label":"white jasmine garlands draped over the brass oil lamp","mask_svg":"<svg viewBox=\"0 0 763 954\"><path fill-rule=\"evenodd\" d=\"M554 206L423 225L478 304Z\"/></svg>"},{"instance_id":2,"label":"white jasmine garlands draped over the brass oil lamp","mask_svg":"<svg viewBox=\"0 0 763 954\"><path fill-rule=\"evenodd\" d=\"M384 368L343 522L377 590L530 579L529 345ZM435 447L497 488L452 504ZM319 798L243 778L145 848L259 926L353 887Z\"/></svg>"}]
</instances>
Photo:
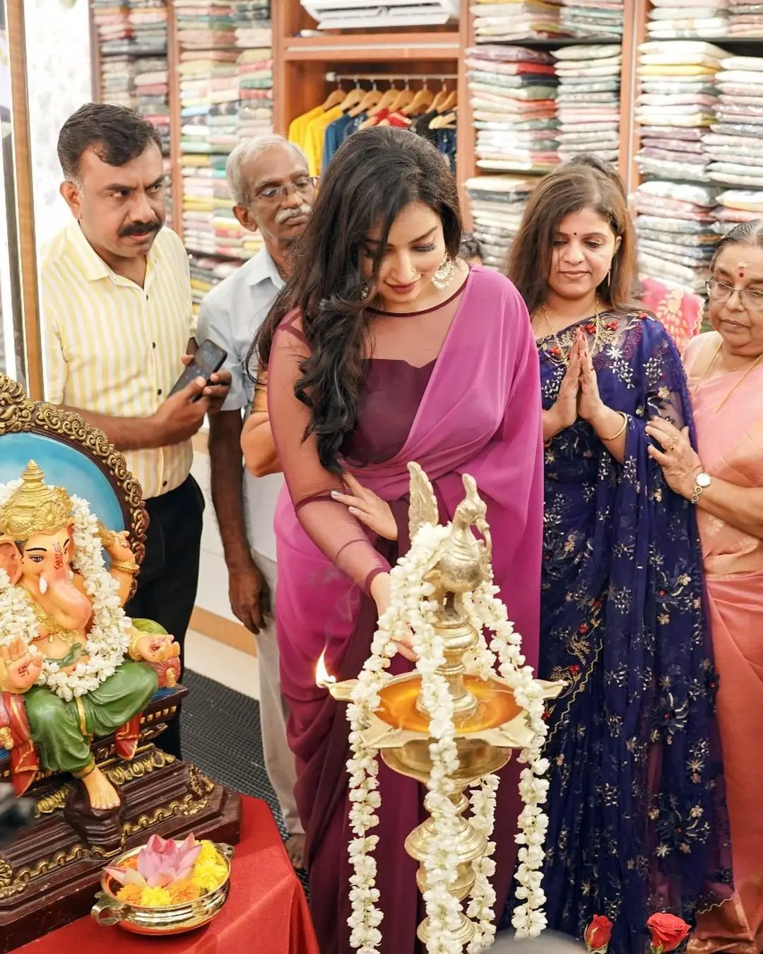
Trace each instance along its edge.
<instances>
[{"instance_id":1,"label":"white jasmine garlands draped over the brass oil lamp","mask_svg":"<svg viewBox=\"0 0 763 954\"><path fill-rule=\"evenodd\" d=\"M377 810L382 803L379 790L378 750L363 742L361 732L379 707L380 691L391 676L386 673L390 660L397 652L396 640L413 634L413 650L417 655L416 669L422 679L422 701L430 714L429 736L432 770L427 785L424 806L432 817L435 838L423 861L427 890L424 893L426 915L429 919L430 954L460 954L463 945L453 939L459 923L461 903L448 888L457 877L458 859L452 851L457 823L456 806L449 798L455 791L453 773L458 768L458 757L453 724L453 697L438 669L445 663L443 638L433 623L438 605L431 599L434 588L423 582L423 576L432 568L438 550L450 533L450 527L423 524L417 531L408 553L391 570L390 606L382 614L371 644L371 654L363 665L358 682L347 707L350 722L351 757L347 762L350 776L350 827L353 840L349 844L350 861L354 873L350 877L352 914L350 944L361 954L375 954L382 942L382 909L380 892L376 887L377 865L374 849L378 836L371 834L379 824ZM519 867L516 880L519 901L512 923L518 937L537 937L546 926L544 904L546 895L541 887L541 867L544 859L548 819L542 805L546 801L548 782L542 776L548 762L542 757L546 738L544 696L535 681L531 667L522 655L522 637L514 632L506 609L498 598L498 588L489 581L476 591L464 596L464 608L478 633L478 645L470 660L470 672L486 679L494 672L498 661L499 674L512 689L517 704L526 710L532 741L524 749L519 761L525 768L520 778L520 794L525 807L518 819L520 844ZM489 645L485 631L491 633ZM490 878L495 873L495 842L490 840L495 817L496 791L499 778L487 775L480 779L470 795L471 823L488 840L485 856L474 863L475 881L466 906L466 916L475 923L476 931L468 944L468 954L488 947L495 936L493 905L495 891Z\"/></svg>"}]
</instances>

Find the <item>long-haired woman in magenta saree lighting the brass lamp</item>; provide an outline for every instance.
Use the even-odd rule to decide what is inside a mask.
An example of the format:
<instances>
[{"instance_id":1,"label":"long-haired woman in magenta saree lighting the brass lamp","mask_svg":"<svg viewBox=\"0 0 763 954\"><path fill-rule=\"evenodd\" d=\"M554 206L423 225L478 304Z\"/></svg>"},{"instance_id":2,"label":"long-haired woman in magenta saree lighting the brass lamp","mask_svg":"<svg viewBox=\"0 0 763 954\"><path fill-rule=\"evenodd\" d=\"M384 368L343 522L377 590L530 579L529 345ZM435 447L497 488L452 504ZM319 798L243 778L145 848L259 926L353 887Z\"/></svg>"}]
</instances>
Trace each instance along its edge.
<instances>
[{"instance_id":1,"label":"long-haired woman in magenta saree lighting the brass lamp","mask_svg":"<svg viewBox=\"0 0 763 954\"><path fill-rule=\"evenodd\" d=\"M487 503L496 583L538 652L543 508L538 359L511 283L457 259L461 220L442 156L408 131L351 136L324 176L287 284L258 338L287 492L278 504L276 618L297 801L322 954L350 948L345 707L316 685L357 675L389 570L409 546L409 461L447 521L471 474ZM402 645L393 672L410 663ZM406 658L407 657L407 658ZM494 839L496 910L510 889L520 809L505 770ZM376 850L384 954L423 949L416 864L404 852L423 791L380 769Z\"/></svg>"}]
</instances>

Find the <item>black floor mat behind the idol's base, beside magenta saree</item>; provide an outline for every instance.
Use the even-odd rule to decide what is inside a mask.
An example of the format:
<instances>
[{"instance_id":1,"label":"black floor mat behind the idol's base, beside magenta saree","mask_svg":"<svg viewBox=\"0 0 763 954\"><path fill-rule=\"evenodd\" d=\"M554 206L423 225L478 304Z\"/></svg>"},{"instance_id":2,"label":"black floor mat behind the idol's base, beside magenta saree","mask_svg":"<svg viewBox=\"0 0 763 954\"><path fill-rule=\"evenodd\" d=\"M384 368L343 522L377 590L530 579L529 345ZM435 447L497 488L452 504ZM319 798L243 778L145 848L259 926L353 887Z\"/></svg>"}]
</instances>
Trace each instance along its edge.
<instances>
[{"instance_id":1,"label":"black floor mat behind the idol's base, beside magenta saree","mask_svg":"<svg viewBox=\"0 0 763 954\"><path fill-rule=\"evenodd\" d=\"M257 699L191 670L183 673L183 685L189 690L183 702L183 758L223 785L266 801L285 836L278 800L265 771ZM306 890L303 874L299 872Z\"/></svg>"}]
</instances>

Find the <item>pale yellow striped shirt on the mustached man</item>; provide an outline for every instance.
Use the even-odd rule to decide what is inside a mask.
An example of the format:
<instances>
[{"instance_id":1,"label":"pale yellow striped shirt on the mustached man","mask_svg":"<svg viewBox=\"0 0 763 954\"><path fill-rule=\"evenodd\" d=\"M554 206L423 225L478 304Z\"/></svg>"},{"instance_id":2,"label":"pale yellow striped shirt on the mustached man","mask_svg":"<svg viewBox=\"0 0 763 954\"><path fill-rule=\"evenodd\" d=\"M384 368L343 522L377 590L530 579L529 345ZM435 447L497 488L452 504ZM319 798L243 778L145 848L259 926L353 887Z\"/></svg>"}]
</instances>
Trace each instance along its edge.
<instances>
[{"instance_id":1,"label":"pale yellow striped shirt on the mustached man","mask_svg":"<svg viewBox=\"0 0 763 954\"><path fill-rule=\"evenodd\" d=\"M109 268L77 221L43 249L40 271L46 400L112 417L154 414L195 330L188 256L175 232L156 236L142 288ZM147 498L179 487L193 456L190 441L125 452Z\"/></svg>"}]
</instances>

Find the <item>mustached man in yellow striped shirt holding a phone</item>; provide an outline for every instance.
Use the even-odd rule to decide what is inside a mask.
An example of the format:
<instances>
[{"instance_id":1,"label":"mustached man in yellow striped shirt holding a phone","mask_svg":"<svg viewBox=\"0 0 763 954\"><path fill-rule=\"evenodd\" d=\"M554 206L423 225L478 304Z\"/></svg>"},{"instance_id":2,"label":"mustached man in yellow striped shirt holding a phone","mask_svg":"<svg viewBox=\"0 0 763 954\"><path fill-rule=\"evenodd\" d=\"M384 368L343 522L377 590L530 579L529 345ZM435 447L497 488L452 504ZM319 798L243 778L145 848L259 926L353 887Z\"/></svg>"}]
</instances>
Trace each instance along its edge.
<instances>
[{"instance_id":1,"label":"mustached man in yellow striped shirt holding a phone","mask_svg":"<svg viewBox=\"0 0 763 954\"><path fill-rule=\"evenodd\" d=\"M170 396L195 350L188 257L166 218L161 140L132 110L89 103L58 138L73 220L43 250L46 398L105 431L151 517L126 606L181 647L196 600L203 495L191 438L225 400L230 373ZM180 755L179 721L160 744Z\"/></svg>"}]
</instances>

